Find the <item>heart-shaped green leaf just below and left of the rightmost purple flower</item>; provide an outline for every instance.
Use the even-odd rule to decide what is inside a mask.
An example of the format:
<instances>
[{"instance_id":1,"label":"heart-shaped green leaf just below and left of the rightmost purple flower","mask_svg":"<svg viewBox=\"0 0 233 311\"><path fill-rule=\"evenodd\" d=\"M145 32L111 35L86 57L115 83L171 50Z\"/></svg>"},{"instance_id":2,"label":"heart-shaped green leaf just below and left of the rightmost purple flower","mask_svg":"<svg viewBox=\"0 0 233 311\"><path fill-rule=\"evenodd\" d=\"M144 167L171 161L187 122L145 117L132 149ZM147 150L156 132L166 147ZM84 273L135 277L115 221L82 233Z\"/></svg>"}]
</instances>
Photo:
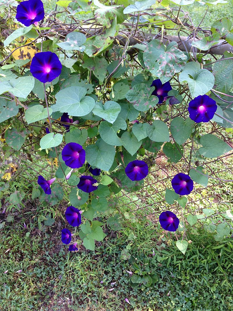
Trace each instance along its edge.
<instances>
[{"instance_id":1,"label":"heart-shaped green leaf just below and left of the rightmost purple flower","mask_svg":"<svg viewBox=\"0 0 233 311\"><path fill-rule=\"evenodd\" d=\"M194 121L190 118L176 117L171 121L171 135L178 145L182 145L193 131Z\"/></svg>"}]
</instances>

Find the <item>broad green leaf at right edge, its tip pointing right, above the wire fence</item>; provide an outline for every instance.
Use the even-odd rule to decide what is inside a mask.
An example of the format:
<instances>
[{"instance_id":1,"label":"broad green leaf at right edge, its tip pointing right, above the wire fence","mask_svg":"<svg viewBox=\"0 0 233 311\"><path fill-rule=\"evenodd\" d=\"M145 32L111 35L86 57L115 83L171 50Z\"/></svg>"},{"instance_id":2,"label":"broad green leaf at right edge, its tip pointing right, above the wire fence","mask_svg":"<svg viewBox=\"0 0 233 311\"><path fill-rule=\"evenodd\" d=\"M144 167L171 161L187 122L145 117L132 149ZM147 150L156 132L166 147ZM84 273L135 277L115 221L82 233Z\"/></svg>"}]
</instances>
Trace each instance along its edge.
<instances>
[{"instance_id":1,"label":"broad green leaf at right edge, its tip pointing right, above the wire fence","mask_svg":"<svg viewBox=\"0 0 233 311\"><path fill-rule=\"evenodd\" d=\"M216 158L232 150L232 148L221 139L213 134L206 134L200 138L203 147L199 148L199 152L206 158Z\"/></svg>"}]
</instances>

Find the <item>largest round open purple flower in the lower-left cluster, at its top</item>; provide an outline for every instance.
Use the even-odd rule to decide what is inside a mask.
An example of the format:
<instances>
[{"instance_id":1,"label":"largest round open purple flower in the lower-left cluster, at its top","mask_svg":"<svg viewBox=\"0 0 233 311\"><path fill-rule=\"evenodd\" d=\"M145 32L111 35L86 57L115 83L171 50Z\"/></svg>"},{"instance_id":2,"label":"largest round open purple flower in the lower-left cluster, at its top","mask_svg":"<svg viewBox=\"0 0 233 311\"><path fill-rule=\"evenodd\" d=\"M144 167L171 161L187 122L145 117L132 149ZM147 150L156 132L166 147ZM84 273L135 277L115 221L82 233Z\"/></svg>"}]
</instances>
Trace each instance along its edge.
<instances>
[{"instance_id":1,"label":"largest round open purple flower in the lower-left cluster, at its top","mask_svg":"<svg viewBox=\"0 0 233 311\"><path fill-rule=\"evenodd\" d=\"M62 160L71 169L78 169L85 162L85 150L76 142L69 142L62 149Z\"/></svg>"}]
</instances>

